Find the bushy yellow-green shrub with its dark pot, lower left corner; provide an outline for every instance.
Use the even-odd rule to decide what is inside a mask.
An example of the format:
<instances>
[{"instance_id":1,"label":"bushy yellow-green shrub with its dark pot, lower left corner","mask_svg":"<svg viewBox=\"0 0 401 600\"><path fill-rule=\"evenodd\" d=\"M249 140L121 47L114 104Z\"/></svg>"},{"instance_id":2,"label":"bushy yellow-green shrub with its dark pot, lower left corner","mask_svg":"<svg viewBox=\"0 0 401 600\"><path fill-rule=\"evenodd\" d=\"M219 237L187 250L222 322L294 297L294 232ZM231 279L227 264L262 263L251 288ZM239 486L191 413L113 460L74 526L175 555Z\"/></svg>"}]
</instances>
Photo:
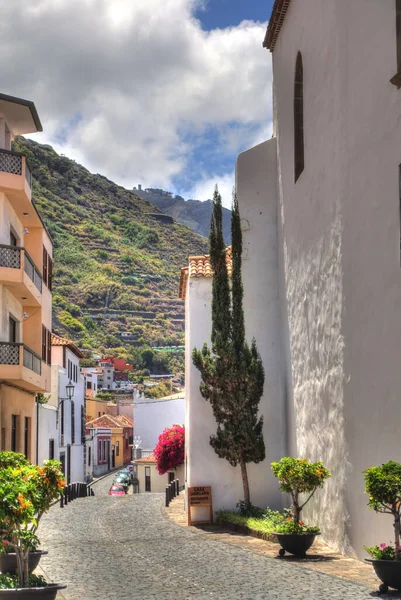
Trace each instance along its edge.
<instances>
[{"instance_id":1,"label":"bushy yellow-green shrub with its dark pot, lower left corner","mask_svg":"<svg viewBox=\"0 0 401 600\"><path fill-rule=\"evenodd\" d=\"M58 589L65 587L47 584L42 577L29 573L31 552L39 544L36 532L40 519L65 485L60 466L59 462L49 460L39 467L21 454L0 452L2 560L16 562L16 574L2 569L0 600L51 600Z\"/></svg>"}]
</instances>

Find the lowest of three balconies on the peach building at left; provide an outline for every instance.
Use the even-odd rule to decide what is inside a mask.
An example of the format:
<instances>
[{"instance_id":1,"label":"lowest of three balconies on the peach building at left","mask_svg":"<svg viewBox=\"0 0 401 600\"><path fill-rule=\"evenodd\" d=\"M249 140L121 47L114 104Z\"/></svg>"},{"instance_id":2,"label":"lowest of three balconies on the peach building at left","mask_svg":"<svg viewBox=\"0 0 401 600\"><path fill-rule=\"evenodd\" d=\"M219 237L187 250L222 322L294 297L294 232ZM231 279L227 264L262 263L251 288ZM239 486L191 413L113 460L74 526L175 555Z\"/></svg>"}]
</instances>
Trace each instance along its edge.
<instances>
[{"instance_id":1,"label":"lowest of three balconies on the peach building at left","mask_svg":"<svg viewBox=\"0 0 401 600\"><path fill-rule=\"evenodd\" d=\"M0 381L32 392L50 389L50 367L25 344L0 342Z\"/></svg>"}]
</instances>

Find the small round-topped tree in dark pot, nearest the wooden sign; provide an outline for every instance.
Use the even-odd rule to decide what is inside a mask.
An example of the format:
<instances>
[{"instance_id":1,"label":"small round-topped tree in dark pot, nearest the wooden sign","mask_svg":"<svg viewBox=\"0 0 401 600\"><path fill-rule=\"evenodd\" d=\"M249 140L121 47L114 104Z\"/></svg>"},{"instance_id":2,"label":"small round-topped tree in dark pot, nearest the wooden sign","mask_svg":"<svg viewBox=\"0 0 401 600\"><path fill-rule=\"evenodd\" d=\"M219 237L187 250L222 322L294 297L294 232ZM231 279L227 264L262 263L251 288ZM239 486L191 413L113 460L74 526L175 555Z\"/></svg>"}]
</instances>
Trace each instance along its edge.
<instances>
[{"instance_id":1,"label":"small round-topped tree in dark pot, nearest the wooden sign","mask_svg":"<svg viewBox=\"0 0 401 600\"><path fill-rule=\"evenodd\" d=\"M320 535L319 527L311 527L301 521L302 509L312 498L318 488L323 487L324 481L330 477L323 463L311 463L307 459L285 456L279 462L271 464L273 474L280 482L282 492L291 494L291 516L282 517L282 524L276 527L281 550L295 556L304 557L312 546L315 537ZM306 500L301 501L301 494L307 494Z\"/></svg>"}]
</instances>

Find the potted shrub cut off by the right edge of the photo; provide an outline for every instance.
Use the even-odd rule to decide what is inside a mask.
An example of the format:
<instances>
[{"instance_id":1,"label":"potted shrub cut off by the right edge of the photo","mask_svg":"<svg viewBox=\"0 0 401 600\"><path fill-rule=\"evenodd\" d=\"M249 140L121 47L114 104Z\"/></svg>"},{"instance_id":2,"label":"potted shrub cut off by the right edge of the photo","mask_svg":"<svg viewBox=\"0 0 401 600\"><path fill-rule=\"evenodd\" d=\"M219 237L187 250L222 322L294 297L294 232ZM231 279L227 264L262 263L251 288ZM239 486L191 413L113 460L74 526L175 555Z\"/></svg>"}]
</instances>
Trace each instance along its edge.
<instances>
[{"instance_id":1,"label":"potted shrub cut off by the right edge of the photo","mask_svg":"<svg viewBox=\"0 0 401 600\"><path fill-rule=\"evenodd\" d=\"M401 464L390 460L380 467L370 467L363 471L365 492L369 494L368 507L378 513L393 517L394 542L392 545L380 544L366 547L365 550L377 577L382 581L379 588L386 593L389 587L401 590L401 546L400 546L400 510L401 510Z\"/></svg>"}]
</instances>

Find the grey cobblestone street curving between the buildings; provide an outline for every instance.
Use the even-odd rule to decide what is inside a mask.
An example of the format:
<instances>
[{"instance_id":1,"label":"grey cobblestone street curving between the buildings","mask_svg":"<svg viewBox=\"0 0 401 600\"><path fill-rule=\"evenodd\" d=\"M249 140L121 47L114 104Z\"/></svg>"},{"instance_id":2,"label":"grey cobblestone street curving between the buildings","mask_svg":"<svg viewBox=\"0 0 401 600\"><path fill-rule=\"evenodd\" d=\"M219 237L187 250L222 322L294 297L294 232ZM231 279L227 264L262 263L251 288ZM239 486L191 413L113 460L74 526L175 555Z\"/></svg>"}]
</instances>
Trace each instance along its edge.
<instances>
[{"instance_id":1,"label":"grey cobblestone street curving between the buildings","mask_svg":"<svg viewBox=\"0 0 401 600\"><path fill-rule=\"evenodd\" d=\"M371 600L367 588L194 534L168 521L160 494L96 496L54 507L41 566L66 600Z\"/></svg>"}]
</instances>

